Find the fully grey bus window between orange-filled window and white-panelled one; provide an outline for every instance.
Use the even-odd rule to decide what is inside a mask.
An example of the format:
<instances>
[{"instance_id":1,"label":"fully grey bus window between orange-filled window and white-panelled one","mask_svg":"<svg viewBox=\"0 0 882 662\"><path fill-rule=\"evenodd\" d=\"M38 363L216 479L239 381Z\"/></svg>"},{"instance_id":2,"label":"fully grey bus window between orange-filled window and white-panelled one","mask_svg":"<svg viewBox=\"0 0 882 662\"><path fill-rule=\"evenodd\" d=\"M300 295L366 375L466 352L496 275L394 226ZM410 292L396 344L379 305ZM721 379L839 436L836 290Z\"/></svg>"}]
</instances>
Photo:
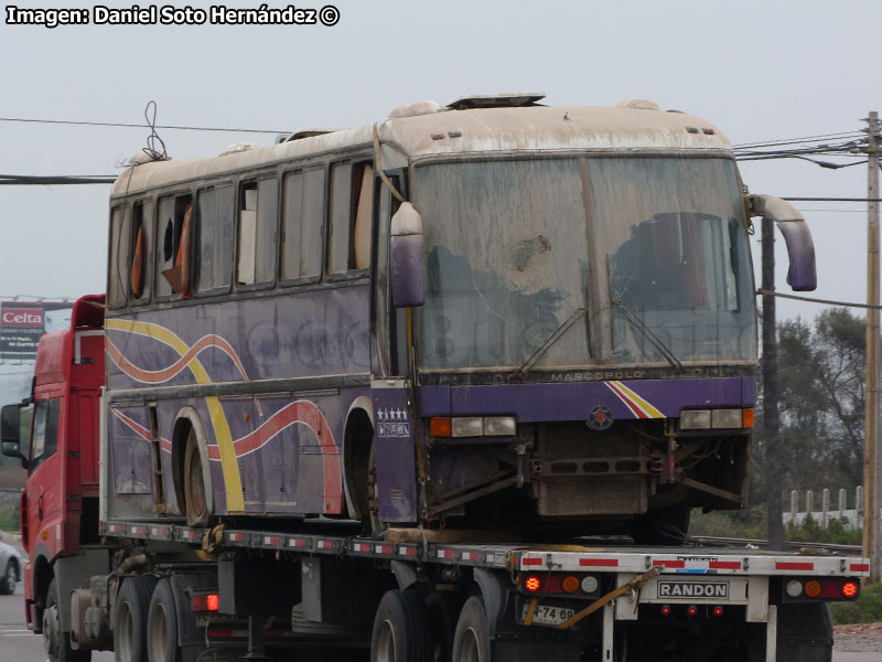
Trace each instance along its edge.
<instances>
[{"instance_id":1,"label":"fully grey bus window between orange-filled window and white-panelled one","mask_svg":"<svg viewBox=\"0 0 882 662\"><path fill-rule=\"evenodd\" d=\"M196 202L196 291L229 290L233 271L234 189L226 184L200 191Z\"/></svg>"}]
</instances>

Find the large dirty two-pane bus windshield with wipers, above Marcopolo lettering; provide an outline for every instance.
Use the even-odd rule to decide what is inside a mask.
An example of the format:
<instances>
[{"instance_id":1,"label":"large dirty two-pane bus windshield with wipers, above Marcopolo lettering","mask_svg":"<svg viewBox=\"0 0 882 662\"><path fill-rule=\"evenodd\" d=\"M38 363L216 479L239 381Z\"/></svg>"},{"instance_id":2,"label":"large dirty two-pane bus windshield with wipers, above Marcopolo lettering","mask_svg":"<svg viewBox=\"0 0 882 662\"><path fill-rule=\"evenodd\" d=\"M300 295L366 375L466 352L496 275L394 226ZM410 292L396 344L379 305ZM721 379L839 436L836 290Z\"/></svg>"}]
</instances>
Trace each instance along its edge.
<instances>
[{"instance_id":1,"label":"large dirty two-pane bus windshield with wipers, above Marcopolo lettering","mask_svg":"<svg viewBox=\"0 0 882 662\"><path fill-rule=\"evenodd\" d=\"M435 163L419 168L416 197L424 369L517 367L537 350L537 367L755 360L730 160ZM549 342L580 309L584 319ZM603 342L589 343L591 332Z\"/></svg>"}]
</instances>

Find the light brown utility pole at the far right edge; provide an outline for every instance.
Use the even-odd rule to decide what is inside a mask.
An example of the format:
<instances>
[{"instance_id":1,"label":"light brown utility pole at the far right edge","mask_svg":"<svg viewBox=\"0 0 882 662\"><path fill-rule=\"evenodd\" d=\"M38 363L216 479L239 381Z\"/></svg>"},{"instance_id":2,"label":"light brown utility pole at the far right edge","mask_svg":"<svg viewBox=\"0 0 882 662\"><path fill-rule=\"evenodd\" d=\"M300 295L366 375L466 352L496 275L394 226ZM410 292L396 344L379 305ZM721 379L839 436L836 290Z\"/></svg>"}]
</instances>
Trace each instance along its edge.
<instances>
[{"instance_id":1,"label":"light brown utility pole at the far right edge","mask_svg":"<svg viewBox=\"0 0 882 662\"><path fill-rule=\"evenodd\" d=\"M867 118L867 303L879 306L879 113ZM863 555L870 559L870 583L882 579L879 511L882 508L882 449L879 444L879 309L867 311L867 410L864 413Z\"/></svg>"}]
</instances>

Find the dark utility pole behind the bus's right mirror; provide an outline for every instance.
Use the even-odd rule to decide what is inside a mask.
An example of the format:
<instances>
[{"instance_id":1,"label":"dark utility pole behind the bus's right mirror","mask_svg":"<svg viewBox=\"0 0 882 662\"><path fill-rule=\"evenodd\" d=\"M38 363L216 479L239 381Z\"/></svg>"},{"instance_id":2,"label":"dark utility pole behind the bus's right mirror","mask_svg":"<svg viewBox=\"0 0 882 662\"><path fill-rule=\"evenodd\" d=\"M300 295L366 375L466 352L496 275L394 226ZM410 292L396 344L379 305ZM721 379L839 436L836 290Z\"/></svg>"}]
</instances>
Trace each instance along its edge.
<instances>
[{"instance_id":1,"label":"dark utility pole behind the bus's right mirror","mask_svg":"<svg viewBox=\"0 0 882 662\"><path fill-rule=\"evenodd\" d=\"M763 218L763 291L775 289L775 223ZM781 502L781 453L778 452L778 355L775 328L775 297L763 297L763 439L770 549L784 549L784 517Z\"/></svg>"}]
</instances>

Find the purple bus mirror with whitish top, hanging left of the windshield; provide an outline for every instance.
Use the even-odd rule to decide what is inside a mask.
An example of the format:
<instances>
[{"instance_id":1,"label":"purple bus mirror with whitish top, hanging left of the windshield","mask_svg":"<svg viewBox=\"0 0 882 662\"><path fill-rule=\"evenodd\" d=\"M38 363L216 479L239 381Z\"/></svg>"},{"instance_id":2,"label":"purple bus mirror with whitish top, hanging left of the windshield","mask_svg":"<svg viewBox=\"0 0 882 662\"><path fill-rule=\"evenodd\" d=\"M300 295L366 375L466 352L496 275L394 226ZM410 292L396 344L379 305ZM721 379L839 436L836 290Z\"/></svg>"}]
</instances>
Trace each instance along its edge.
<instances>
[{"instance_id":1,"label":"purple bus mirror with whitish top, hanging left of the windshield","mask_svg":"<svg viewBox=\"0 0 882 662\"><path fill-rule=\"evenodd\" d=\"M422 306L422 217L409 202L402 202L392 215L389 232L389 269L392 305L396 308Z\"/></svg>"}]
</instances>

